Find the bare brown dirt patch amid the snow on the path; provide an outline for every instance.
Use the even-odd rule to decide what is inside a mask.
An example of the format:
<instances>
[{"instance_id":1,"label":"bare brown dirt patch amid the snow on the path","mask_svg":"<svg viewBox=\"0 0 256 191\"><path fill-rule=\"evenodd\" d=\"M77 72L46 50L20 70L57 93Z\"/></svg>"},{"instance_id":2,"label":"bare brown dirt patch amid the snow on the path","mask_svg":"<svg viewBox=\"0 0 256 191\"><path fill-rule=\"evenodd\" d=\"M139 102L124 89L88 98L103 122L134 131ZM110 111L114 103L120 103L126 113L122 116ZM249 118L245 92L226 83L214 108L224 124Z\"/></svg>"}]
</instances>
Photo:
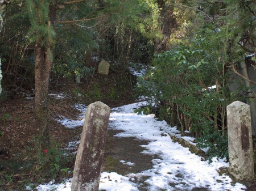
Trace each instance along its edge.
<instances>
[{"instance_id":1,"label":"bare brown dirt patch amid the snow on the path","mask_svg":"<svg viewBox=\"0 0 256 191\"><path fill-rule=\"evenodd\" d=\"M120 132L122 131L108 130L104 170L117 172L125 176L129 173L138 173L152 168L151 161L155 156L142 154L141 152L144 148L140 147L140 145L147 145L148 142L138 140L134 137L118 138L113 136ZM135 165L123 164L120 160L132 162Z\"/></svg>"}]
</instances>

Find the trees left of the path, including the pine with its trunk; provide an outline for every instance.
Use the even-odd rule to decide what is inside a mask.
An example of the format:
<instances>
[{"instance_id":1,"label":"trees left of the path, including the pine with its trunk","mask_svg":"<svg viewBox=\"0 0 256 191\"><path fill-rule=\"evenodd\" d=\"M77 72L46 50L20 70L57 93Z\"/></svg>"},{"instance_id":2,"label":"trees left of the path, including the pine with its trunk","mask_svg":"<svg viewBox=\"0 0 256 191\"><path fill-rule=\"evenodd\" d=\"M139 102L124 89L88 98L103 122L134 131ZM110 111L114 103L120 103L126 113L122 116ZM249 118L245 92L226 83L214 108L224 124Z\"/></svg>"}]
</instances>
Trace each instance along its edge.
<instances>
[{"instance_id":1,"label":"trees left of the path, including the pine with its trunk","mask_svg":"<svg viewBox=\"0 0 256 191\"><path fill-rule=\"evenodd\" d=\"M15 94L19 88L35 83L35 128L39 131L39 148L45 150L50 146L48 84L51 71L82 77L92 71L90 55L97 49L105 58L114 55L113 60L127 63L136 46L141 45L133 45L137 43L132 40L136 32L126 32L144 20L156 23L154 19L138 17L150 9L150 1L134 0L11 3L1 37L3 71L4 75L10 75L5 87ZM133 22L137 24L133 26ZM146 24L141 24L141 28L143 26ZM147 40L144 41L147 44Z\"/></svg>"}]
</instances>

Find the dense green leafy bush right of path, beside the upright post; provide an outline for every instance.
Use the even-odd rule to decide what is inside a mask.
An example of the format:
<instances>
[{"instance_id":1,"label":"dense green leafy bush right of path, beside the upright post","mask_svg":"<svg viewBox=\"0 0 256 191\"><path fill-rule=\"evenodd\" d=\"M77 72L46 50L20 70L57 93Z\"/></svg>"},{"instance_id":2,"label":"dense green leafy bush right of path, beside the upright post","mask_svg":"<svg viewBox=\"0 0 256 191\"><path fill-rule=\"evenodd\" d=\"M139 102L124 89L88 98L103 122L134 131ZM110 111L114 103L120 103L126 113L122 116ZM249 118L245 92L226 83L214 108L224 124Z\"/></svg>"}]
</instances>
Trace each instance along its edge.
<instances>
[{"instance_id":1,"label":"dense green leafy bush right of path, beside the upright post","mask_svg":"<svg viewBox=\"0 0 256 191\"><path fill-rule=\"evenodd\" d=\"M189 130L200 137L199 146L208 147L210 157L223 158L228 157L226 106L240 98L229 91L230 71L216 55L205 39L156 54L135 90L181 134Z\"/></svg>"}]
</instances>

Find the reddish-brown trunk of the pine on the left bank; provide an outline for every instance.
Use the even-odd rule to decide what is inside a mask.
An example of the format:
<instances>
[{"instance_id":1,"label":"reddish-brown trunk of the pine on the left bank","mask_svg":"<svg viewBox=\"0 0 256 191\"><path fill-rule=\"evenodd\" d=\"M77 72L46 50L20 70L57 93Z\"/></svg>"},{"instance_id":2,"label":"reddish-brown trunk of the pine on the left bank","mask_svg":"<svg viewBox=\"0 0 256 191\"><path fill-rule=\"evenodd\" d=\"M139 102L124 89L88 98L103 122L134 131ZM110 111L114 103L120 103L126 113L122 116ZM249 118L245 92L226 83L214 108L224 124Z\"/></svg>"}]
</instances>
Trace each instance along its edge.
<instances>
[{"instance_id":1,"label":"reddish-brown trunk of the pine on the left bank","mask_svg":"<svg viewBox=\"0 0 256 191\"><path fill-rule=\"evenodd\" d=\"M56 1L53 1L49 9L47 25L51 28L56 19ZM49 149L49 109L48 86L52 68L53 44L52 37L38 37L35 42L35 128L38 129L38 141L40 149Z\"/></svg>"}]
</instances>

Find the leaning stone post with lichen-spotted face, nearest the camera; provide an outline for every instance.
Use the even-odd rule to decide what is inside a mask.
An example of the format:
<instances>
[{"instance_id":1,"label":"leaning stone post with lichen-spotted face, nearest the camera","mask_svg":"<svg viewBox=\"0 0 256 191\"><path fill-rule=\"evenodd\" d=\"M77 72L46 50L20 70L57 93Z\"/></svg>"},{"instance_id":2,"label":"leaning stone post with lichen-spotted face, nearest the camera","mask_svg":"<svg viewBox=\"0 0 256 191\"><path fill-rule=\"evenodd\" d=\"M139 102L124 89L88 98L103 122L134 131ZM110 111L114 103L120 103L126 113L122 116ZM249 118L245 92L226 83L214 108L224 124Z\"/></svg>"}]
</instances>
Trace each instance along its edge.
<instances>
[{"instance_id":1,"label":"leaning stone post with lichen-spotted face, nearest the camera","mask_svg":"<svg viewBox=\"0 0 256 191\"><path fill-rule=\"evenodd\" d=\"M108 105L100 101L87 108L76 155L72 191L98 191L109 114Z\"/></svg>"}]
</instances>

